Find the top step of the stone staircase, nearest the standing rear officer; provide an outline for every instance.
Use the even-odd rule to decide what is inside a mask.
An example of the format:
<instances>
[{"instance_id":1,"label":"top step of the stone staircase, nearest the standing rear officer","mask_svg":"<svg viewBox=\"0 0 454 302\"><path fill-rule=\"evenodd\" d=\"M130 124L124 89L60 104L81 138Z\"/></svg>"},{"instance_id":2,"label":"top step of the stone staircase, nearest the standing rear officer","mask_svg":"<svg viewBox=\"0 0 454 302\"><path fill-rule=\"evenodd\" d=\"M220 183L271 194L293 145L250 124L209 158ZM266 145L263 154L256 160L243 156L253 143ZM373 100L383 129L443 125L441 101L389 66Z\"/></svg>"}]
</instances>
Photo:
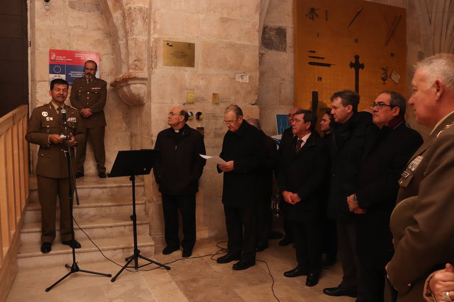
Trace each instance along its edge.
<instances>
[{"instance_id":1,"label":"top step of the stone staircase, nearest the standing rear officer","mask_svg":"<svg viewBox=\"0 0 454 302\"><path fill-rule=\"evenodd\" d=\"M30 201L38 201L38 186L36 177L30 175ZM144 193L144 183L136 178L136 196ZM130 197L132 198L132 182L128 176L99 178L95 176L84 176L76 179L76 186L79 199L95 199L102 197ZM74 196L74 201L76 197Z\"/></svg>"}]
</instances>

